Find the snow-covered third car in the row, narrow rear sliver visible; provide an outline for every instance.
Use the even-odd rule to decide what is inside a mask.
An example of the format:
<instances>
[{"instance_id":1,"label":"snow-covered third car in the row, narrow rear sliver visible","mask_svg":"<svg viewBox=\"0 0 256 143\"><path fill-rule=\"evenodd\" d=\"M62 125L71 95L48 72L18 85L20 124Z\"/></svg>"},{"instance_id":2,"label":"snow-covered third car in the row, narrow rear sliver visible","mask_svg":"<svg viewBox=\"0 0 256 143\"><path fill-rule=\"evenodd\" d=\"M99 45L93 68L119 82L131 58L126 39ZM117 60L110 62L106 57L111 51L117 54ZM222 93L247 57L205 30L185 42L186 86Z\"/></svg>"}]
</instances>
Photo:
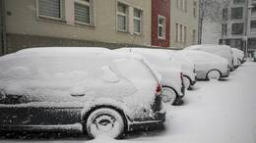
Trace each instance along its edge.
<instances>
[{"instance_id":1,"label":"snow-covered third car in the row, narrow rear sliver visible","mask_svg":"<svg viewBox=\"0 0 256 143\"><path fill-rule=\"evenodd\" d=\"M178 62L181 65L181 70L183 72L183 82L186 89L192 89L192 87L196 84L196 72L195 66L192 62L189 61L186 57L179 54L177 51L174 50L165 50L170 57Z\"/></svg>"}]
</instances>

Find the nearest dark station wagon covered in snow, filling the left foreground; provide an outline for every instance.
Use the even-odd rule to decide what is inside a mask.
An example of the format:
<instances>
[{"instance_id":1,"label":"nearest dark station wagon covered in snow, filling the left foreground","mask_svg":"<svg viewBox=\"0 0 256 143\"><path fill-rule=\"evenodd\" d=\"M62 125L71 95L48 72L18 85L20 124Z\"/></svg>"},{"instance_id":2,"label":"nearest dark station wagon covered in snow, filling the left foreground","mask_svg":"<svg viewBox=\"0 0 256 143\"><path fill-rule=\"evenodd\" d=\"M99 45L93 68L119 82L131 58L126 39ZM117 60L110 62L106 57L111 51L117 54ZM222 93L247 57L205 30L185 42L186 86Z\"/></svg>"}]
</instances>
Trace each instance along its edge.
<instances>
[{"instance_id":1,"label":"nearest dark station wagon covered in snow, filling the left foreground","mask_svg":"<svg viewBox=\"0 0 256 143\"><path fill-rule=\"evenodd\" d=\"M161 124L160 77L140 57L34 48L0 58L0 130L85 131L116 138Z\"/></svg>"}]
</instances>

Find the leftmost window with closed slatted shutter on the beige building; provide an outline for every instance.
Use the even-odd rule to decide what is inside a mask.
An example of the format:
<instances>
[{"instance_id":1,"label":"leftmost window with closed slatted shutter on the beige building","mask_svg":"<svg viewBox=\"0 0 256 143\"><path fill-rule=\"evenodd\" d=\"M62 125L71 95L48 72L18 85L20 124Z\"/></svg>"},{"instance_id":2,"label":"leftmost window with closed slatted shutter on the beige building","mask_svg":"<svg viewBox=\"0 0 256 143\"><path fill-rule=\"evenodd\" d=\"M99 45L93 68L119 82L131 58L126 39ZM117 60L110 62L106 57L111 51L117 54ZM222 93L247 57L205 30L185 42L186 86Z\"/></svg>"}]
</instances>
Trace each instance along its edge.
<instances>
[{"instance_id":1,"label":"leftmost window with closed slatted shutter on the beige building","mask_svg":"<svg viewBox=\"0 0 256 143\"><path fill-rule=\"evenodd\" d=\"M62 19L62 0L38 0L38 17Z\"/></svg>"}]
</instances>

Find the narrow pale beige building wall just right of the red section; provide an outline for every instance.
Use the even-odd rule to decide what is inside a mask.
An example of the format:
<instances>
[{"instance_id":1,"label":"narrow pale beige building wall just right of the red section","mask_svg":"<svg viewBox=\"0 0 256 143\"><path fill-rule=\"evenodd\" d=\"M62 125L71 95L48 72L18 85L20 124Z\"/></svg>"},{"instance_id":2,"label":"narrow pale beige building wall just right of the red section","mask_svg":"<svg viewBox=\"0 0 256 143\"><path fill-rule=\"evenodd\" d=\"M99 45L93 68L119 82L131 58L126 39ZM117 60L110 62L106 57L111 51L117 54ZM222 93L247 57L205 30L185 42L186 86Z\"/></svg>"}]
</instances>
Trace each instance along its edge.
<instances>
[{"instance_id":1,"label":"narrow pale beige building wall just right of the red section","mask_svg":"<svg viewBox=\"0 0 256 143\"><path fill-rule=\"evenodd\" d=\"M196 11L194 16L194 9ZM170 46L184 48L198 43L199 0L171 0ZM178 28L176 28L176 24ZM182 38L180 36L182 25ZM184 27L186 26L186 32ZM194 30L194 35L193 35ZM186 36L184 36L186 35Z\"/></svg>"}]
</instances>

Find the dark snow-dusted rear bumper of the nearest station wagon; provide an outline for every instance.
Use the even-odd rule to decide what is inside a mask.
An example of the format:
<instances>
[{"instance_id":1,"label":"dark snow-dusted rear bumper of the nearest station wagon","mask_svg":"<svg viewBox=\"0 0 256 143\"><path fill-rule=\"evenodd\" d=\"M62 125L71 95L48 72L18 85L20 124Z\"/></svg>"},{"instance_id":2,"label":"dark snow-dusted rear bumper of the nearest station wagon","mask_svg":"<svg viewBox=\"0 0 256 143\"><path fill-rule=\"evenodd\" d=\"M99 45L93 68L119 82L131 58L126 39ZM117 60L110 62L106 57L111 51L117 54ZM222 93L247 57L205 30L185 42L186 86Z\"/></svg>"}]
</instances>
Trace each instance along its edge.
<instances>
[{"instance_id":1,"label":"dark snow-dusted rear bumper of the nearest station wagon","mask_svg":"<svg viewBox=\"0 0 256 143\"><path fill-rule=\"evenodd\" d=\"M140 130L145 128L159 128L165 121L165 111L156 113L154 119L148 119L143 121L132 121L129 123L128 131Z\"/></svg>"}]
</instances>

